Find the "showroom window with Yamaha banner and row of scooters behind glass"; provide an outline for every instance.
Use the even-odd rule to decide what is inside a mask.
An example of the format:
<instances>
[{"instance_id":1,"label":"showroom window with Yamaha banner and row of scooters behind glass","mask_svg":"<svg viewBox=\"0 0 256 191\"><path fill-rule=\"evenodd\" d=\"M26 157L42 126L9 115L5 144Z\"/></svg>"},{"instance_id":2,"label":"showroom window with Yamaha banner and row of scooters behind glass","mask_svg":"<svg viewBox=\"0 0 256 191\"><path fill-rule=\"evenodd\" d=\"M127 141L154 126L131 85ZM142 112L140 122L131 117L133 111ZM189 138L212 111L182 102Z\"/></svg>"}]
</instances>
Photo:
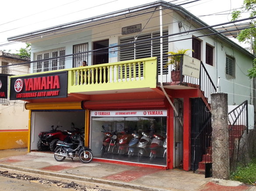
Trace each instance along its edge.
<instances>
[{"instance_id":1,"label":"showroom window with Yamaha banner and row of scooters behind glass","mask_svg":"<svg viewBox=\"0 0 256 191\"><path fill-rule=\"evenodd\" d=\"M166 166L167 111L91 111L95 158Z\"/></svg>"}]
</instances>

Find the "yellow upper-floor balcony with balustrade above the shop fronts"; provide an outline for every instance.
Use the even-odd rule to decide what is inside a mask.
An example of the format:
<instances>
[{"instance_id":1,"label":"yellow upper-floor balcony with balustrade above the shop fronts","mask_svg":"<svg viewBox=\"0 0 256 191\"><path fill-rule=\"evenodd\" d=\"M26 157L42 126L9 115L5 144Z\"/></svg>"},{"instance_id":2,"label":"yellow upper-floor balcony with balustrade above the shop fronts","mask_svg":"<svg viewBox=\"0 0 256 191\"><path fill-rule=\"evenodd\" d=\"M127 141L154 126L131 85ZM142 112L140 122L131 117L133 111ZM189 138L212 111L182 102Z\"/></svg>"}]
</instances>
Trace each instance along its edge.
<instances>
[{"instance_id":1,"label":"yellow upper-floor balcony with balustrade above the shop fronts","mask_svg":"<svg viewBox=\"0 0 256 191\"><path fill-rule=\"evenodd\" d=\"M61 59L63 60L63 58ZM168 57L164 57L163 63L166 63L167 59ZM57 59L52 60L56 61ZM47 60L49 68L46 69L50 70L50 66L52 66L52 60ZM39 66L43 66L39 65L39 63L43 62L34 62L37 64L36 66L39 69ZM182 64L183 63L181 63L181 69ZM185 62L185 64L187 63ZM145 93L144 95L146 95L146 97L151 96L151 98L154 98L158 95L163 95L160 87L161 84L163 84L163 87L166 90L201 90L194 91L198 93L194 96L191 95L192 97L207 98L210 97L210 94L216 91L216 88L213 85L213 82L210 79L210 76L207 73L202 62L199 61L199 65L197 66L197 77L191 76L189 74L186 75L184 71L181 70L180 74L183 74L183 77L176 82L171 80L171 67L171 65L167 68L163 67L163 75L160 75L159 58L151 57L145 59L122 61L117 63L107 63L70 69L45 71L22 76L42 76L46 74L49 75L53 72L67 71L67 89L69 100L71 97L76 97L76 101L81 101L85 99L89 100L90 95L108 94L111 97L111 95L116 93ZM39 71L46 69L41 68ZM62 83L65 84L64 81L62 81ZM147 92L154 92L156 94L149 95L147 94ZM171 94L169 94L169 96L171 96Z\"/></svg>"}]
</instances>

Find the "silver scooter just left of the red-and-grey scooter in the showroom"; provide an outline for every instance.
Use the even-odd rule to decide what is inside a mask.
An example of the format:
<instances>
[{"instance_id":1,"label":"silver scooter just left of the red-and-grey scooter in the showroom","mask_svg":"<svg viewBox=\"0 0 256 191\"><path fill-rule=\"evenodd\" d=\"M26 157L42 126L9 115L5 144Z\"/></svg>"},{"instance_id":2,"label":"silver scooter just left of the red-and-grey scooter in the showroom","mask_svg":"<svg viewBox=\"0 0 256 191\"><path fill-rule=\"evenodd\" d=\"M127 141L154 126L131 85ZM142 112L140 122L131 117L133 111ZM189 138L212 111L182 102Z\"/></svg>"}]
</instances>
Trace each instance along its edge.
<instances>
[{"instance_id":1,"label":"silver scooter just left of the red-and-grey scooter in the showroom","mask_svg":"<svg viewBox=\"0 0 256 191\"><path fill-rule=\"evenodd\" d=\"M142 138L139 140L137 147L139 148L139 161L142 160L144 156L149 156L149 146L151 143L150 135L149 133L142 132Z\"/></svg>"}]
</instances>

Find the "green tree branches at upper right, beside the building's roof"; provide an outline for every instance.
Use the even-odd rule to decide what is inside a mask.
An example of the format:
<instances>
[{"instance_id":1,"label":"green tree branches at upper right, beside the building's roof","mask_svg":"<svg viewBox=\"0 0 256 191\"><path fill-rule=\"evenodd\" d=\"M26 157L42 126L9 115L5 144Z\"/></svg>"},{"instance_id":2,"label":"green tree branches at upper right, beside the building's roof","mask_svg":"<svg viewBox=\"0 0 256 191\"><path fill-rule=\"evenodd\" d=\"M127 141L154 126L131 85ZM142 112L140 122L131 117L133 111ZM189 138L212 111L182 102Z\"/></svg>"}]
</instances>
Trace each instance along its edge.
<instances>
[{"instance_id":1,"label":"green tree branches at upper right, beside the building's roof","mask_svg":"<svg viewBox=\"0 0 256 191\"><path fill-rule=\"evenodd\" d=\"M243 6L239 10L234 10L232 12L232 20L235 21L239 17L241 17L242 13L249 13L249 17L254 17L256 16L256 0L244 0ZM239 42L245 42L245 43L252 43L252 50L253 52L256 52L256 21L251 20L251 28L246 28L242 30L238 34L238 41ZM248 70L248 75L249 78L256 77L256 59L253 60L253 66L251 69Z\"/></svg>"}]
</instances>

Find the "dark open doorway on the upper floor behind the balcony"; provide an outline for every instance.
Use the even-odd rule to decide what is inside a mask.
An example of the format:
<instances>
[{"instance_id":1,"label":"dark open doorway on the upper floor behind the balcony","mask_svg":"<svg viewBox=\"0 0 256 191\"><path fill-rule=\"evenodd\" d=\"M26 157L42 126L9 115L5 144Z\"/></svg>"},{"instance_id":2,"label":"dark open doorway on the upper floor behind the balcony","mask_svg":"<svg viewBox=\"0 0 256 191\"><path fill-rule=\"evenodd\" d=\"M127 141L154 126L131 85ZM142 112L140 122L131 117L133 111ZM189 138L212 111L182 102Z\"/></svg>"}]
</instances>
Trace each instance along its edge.
<instances>
[{"instance_id":1,"label":"dark open doorway on the upper floor behind the balcony","mask_svg":"<svg viewBox=\"0 0 256 191\"><path fill-rule=\"evenodd\" d=\"M108 49L109 40L93 42L93 60L92 65L108 63Z\"/></svg>"}]
</instances>

